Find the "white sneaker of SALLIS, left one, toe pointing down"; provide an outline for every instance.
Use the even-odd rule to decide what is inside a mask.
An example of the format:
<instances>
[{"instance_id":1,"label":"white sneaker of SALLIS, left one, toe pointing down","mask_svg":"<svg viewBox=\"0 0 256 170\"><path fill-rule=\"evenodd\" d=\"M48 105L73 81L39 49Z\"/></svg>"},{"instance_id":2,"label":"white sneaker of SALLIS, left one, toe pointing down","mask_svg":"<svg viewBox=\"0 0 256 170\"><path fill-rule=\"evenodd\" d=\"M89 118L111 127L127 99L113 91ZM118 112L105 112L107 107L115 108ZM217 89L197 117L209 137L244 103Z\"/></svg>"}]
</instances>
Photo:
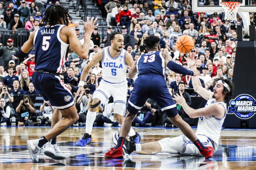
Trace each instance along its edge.
<instances>
[{"instance_id":1,"label":"white sneaker of SALLIS, left one, toe pointing down","mask_svg":"<svg viewBox=\"0 0 256 170\"><path fill-rule=\"evenodd\" d=\"M41 154L42 148L38 147L39 140L27 140L27 148L30 154L30 157L34 163L38 162L38 156Z\"/></svg>"}]
</instances>

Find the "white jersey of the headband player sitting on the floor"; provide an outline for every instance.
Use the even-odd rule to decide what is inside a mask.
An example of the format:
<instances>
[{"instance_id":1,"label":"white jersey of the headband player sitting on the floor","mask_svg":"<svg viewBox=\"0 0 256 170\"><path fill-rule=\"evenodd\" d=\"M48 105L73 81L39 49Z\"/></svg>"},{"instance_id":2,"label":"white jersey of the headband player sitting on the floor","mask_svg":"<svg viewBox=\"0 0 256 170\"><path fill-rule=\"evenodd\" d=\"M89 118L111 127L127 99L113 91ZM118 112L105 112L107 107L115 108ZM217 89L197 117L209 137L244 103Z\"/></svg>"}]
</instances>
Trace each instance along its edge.
<instances>
[{"instance_id":1,"label":"white jersey of the headband player sitting on the floor","mask_svg":"<svg viewBox=\"0 0 256 170\"><path fill-rule=\"evenodd\" d=\"M205 107L215 103L222 104L225 108L225 115L221 119L218 119L215 116L199 117L196 135L201 134L210 138L214 143L214 150L216 151L219 145L220 131L227 114L227 104L225 102L214 102L214 100L214 98L210 98Z\"/></svg>"}]
</instances>

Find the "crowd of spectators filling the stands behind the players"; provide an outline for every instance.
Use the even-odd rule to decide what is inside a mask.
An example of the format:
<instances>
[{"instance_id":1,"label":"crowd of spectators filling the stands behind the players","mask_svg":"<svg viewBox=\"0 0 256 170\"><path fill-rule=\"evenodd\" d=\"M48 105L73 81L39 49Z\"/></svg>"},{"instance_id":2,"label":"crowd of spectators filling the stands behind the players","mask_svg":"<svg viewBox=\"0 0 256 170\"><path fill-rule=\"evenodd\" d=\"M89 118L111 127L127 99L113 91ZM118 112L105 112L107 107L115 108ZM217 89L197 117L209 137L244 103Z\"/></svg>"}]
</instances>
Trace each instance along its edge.
<instances>
[{"instance_id":1,"label":"crowd of spectators filling the stands behind the players","mask_svg":"<svg viewBox=\"0 0 256 170\"><path fill-rule=\"evenodd\" d=\"M82 69L94 57L95 53L111 45L109 37L115 31L123 34L123 48L133 56L134 62L140 55L146 53L144 39L149 35L155 35L160 38L161 51L170 54L175 63L188 69L190 66L186 63L186 54L177 50L175 42L179 36L192 36L195 42L192 51L198 57L197 69L201 72L200 81L202 86L208 90L213 90L212 82L215 78L225 77L232 80L237 34L235 30L230 29L231 23L223 19L223 13L195 13L191 10L191 2L187 0L113 0L110 2L109 0L101 0L96 2L95 5L99 6L102 17L108 23L106 34L99 35L99 29L97 27L94 29L91 35L88 59L80 59L74 50L71 47L69 48L68 59L63 66L63 73L60 77L67 84L72 94L75 94L78 89ZM98 2L101 2L101 4L98 4ZM56 1L56 3L59 2ZM39 8L36 7L36 2L31 2L30 5L22 4L23 1L21 1L21 6L16 10L11 7L11 4L8 9L2 12L4 13L4 18L1 18L3 14L0 15L0 25L7 25L8 27L12 23L14 24L11 27L12 30L16 29L18 25L22 25L23 28L30 31L40 28L42 14L38 10ZM19 11L23 11L24 14L19 14ZM25 15L25 11L29 15ZM35 12L35 15L31 16L30 14L33 12ZM13 17L13 19L8 22L6 21L7 16L9 18ZM74 29L77 38L83 44L86 32L79 27L79 21L69 19L69 26ZM113 26L120 26L120 29ZM134 45L132 45L132 40L136 42ZM13 46L12 39L7 40L7 46L0 48L0 110L3 107L5 112L1 112L1 123L3 125L11 123L7 119L12 117L12 111L17 114L16 124L26 124L28 119L37 124L38 117L35 113L35 106L29 98L30 95L38 95L31 81L35 67L34 49L24 59L17 56L17 51L18 49ZM191 90L193 88L191 76L174 73L168 68L165 71L165 76L170 94L174 95L180 90L187 104L191 105L191 96L198 96ZM86 121L92 94L101 79L102 67L101 62L99 62L89 70L84 90L75 99L80 125L84 125ZM129 78L127 78L127 81L128 100L132 93L134 82ZM13 104L15 103L14 97L17 95L25 96L22 100L20 99L16 102L17 104ZM110 98L99 107L94 123L95 126L119 126L113 117L113 105L113 99ZM184 112L182 106L177 104L177 109L183 120L190 123L190 118ZM48 117L49 121L51 121L53 111L51 105L46 103L43 103L39 110L44 117ZM133 121L133 126L156 125L173 126L164 116L156 101L148 99Z\"/></svg>"}]
</instances>

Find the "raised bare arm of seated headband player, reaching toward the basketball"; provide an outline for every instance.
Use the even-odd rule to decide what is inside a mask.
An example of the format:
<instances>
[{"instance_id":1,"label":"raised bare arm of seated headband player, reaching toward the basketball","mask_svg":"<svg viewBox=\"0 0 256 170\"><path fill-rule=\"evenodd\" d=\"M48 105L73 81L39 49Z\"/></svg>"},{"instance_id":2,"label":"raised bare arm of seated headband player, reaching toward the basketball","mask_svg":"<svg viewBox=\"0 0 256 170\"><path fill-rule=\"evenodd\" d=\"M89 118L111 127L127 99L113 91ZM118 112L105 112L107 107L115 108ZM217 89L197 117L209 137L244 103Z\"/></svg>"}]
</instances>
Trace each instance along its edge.
<instances>
[{"instance_id":1,"label":"raised bare arm of seated headband player, reaching toward the basketball","mask_svg":"<svg viewBox=\"0 0 256 170\"><path fill-rule=\"evenodd\" d=\"M187 63L190 65L191 70L196 69L196 60L194 59L195 54L189 53L187 54L187 57L185 59L187 60ZM202 87L202 84L199 80L198 76L192 77L192 84L194 87L195 92L197 92L200 96L202 96L205 100L209 100L209 98L212 97L213 93Z\"/></svg>"}]
</instances>

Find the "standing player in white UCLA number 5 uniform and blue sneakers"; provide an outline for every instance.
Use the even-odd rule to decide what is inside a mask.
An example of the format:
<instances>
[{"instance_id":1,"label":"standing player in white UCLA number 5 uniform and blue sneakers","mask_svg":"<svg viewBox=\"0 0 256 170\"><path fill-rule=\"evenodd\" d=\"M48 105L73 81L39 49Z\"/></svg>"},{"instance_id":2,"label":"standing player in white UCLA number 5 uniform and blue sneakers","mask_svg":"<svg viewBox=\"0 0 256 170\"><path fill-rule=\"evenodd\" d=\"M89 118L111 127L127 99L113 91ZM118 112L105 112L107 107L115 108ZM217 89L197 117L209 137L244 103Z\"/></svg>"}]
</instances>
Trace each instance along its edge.
<instances>
[{"instance_id":1,"label":"standing player in white UCLA number 5 uniform and blue sneakers","mask_svg":"<svg viewBox=\"0 0 256 170\"><path fill-rule=\"evenodd\" d=\"M85 77L88 71L96 63L102 63L102 77L98 88L92 95L91 106L86 116L86 133L76 142L76 145L84 147L91 142L92 126L96 118L96 111L101 103L104 103L112 95L114 98L114 117L119 124L122 124L124 117L123 112L126 108L127 100L127 67L133 66L133 58L126 50L123 49L124 37L119 32L110 35L110 47L105 47L98 51L93 59L84 67L79 82L79 89L76 96L80 94L84 86ZM140 136L131 128L130 140L139 143ZM118 137L117 137L118 138Z\"/></svg>"}]
</instances>

